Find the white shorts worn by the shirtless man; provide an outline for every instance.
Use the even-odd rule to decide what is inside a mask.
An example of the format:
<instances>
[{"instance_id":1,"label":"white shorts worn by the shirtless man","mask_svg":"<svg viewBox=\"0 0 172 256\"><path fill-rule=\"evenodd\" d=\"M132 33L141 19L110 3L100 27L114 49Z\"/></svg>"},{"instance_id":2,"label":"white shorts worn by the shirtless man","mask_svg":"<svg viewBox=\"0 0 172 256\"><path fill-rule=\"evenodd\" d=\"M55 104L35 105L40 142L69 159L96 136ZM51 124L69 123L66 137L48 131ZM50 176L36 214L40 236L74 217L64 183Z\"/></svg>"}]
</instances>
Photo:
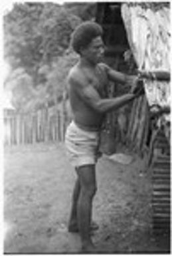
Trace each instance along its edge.
<instances>
[{"instance_id":1,"label":"white shorts worn by the shirtless man","mask_svg":"<svg viewBox=\"0 0 172 256\"><path fill-rule=\"evenodd\" d=\"M99 132L79 128L72 121L65 135L65 145L70 163L74 167L96 164L98 160Z\"/></svg>"}]
</instances>

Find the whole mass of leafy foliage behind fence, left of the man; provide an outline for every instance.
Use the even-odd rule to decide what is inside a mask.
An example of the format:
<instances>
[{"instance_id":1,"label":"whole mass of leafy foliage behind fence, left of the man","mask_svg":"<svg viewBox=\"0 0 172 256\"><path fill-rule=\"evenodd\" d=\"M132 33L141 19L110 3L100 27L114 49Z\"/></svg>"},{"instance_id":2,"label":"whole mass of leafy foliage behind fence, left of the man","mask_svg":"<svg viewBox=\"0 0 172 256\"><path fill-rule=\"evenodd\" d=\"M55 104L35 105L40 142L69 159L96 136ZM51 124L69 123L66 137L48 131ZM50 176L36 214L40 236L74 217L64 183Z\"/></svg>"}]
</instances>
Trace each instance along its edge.
<instances>
[{"instance_id":1,"label":"whole mass of leafy foliage behind fence, left of the man","mask_svg":"<svg viewBox=\"0 0 172 256\"><path fill-rule=\"evenodd\" d=\"M4 59L12 69L5 88L13 92L17 110L62 100L66 75L77 59L66 50L81 21L55 3L16 3L5 15Z\"/></svg>"}]
</instances>

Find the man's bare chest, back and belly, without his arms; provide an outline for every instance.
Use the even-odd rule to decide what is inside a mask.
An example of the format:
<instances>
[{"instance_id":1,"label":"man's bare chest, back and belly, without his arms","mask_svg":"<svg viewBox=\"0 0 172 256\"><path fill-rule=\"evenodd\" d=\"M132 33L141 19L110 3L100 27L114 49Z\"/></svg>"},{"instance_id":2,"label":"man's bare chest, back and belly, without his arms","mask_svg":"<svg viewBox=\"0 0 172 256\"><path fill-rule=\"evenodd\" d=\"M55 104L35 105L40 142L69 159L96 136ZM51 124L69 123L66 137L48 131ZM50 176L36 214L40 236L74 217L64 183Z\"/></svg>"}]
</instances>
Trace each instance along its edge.
<instances>
[{"instance_id":1,"label":"man's bare chest, back and belly, without his arms","mask_svg":"<svg viewBox=\"0 0 172 256\"><path fill-rule=\"evenodd\" d=\"M69 81L70 78L77 78L83 86L90 86L91 84L100 95L100 98L106 98L107 96L108 76L104 64L97 64L96 68L81 67L79 64L76 64L70 70L68 78ZM80 95L80 88L78 88L77 83L69 82L68 86L74 122L85 130L99 130L104 114L94 110L84 101L84 98Z\"/></svg>"}]
</instances>

